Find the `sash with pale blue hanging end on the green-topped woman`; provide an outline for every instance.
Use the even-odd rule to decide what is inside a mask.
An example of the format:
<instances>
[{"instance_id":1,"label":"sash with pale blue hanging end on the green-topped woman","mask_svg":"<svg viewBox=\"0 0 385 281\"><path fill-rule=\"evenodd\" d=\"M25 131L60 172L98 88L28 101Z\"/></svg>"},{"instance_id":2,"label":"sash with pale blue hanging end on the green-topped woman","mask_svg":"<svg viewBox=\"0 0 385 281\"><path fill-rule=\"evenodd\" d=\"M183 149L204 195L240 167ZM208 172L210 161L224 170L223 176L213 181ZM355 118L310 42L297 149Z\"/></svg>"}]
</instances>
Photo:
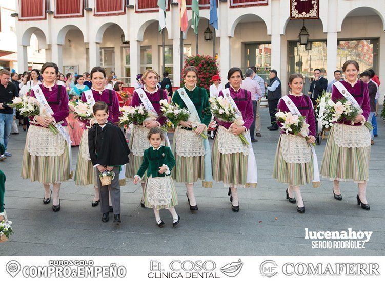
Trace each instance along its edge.
<instances>
[{"instance_id":1,"label":"sash with pale blue hanging end on the green-topped woman","mask_svg":"<svg viewBox=\"0 0 385 281\"><path fill-rule=\"evenodd\" d=\"M179 88L178 90L180 98L184 101L184 103L187 106L187 109L190 111L190 117L189 120L194 124L198 125L200 124L200 118L198 115L198 112L195 108L194 103L190 99L190 97L187 95L185 88ZM199 136L198 136L199 137ZM199 137L200 138L200 137ZM213 181L213 172L211 167L211 150L210 150L210 144L208 139L203 140L203 145L205 146L205 156L204 156L204 163L205 163L205 181L202 182L204 187L210 186L212 187L212 181Z\"/></svg>"}]
</instances>

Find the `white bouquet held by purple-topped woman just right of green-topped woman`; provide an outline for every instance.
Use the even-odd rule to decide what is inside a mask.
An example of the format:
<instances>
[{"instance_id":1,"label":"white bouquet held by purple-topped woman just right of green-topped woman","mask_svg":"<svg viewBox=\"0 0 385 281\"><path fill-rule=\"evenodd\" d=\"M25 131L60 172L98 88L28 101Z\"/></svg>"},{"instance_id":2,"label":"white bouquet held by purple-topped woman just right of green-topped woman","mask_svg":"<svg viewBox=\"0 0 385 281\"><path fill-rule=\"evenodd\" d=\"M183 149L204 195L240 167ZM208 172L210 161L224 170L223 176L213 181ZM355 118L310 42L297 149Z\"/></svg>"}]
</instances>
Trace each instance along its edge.
<instances>
[{"instance_id":1,"label":"white bouquet held by purple-topped woman just right of green-topped woman","mask_svg":"<svg viewBox=\"0 0 385 281\"><path fill-rule=\"evenodd\" d=\"M223 122L234 123L237 126L243 126L245 122L242 120L242 116L237 114L229 101L219 96L217 98L210 98L210 109L216 119ZM244 145L249 145L244 133L238 135Z\"/></svg>"}]
</instances>

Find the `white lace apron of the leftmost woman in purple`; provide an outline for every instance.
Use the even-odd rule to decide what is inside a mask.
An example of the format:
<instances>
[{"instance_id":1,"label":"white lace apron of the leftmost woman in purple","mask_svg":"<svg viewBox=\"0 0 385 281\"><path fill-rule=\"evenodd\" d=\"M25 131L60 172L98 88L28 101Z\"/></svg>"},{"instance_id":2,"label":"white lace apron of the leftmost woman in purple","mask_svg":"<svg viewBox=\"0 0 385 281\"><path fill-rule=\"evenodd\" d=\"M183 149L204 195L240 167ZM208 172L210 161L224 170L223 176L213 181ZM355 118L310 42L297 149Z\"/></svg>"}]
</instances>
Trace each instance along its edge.
<instances>
[{"instance_id":1,"label":"white lace apron of the leftmost woman in purple","mask_svg":"<svg viewBox=\"0 0 385 281\"><path fill-rule=\"evenodd\" d=\"M49 128L34 125L28 129L27 143L32 156L60 156L66 146L62 134L54 135Z\"/></svg>"}]
</instances>

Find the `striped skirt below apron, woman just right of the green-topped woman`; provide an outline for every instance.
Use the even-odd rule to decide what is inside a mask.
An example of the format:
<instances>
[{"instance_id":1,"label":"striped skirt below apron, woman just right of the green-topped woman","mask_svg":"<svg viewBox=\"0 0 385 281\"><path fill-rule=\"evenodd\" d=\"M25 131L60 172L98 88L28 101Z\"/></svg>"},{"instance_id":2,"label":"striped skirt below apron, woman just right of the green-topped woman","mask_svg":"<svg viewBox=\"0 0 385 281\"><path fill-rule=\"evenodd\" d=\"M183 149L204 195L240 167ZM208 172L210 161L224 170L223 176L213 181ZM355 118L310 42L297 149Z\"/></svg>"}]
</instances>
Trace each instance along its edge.
<instances>
[{"instance_id":1,"label":"striped skirt below apron, woman just right of the green-topped woman","mask_svg":"<svg viewBox=\"0 0 385 281\"><path fill-rule=\"evenodd\" d=\"M229 184L245 187L247 182L248 156L239 152L228 154L220 153L217 136L218 134L215 136L211 155L214 181L224 182L225 187Z\"/></svg>"}]
</instances>

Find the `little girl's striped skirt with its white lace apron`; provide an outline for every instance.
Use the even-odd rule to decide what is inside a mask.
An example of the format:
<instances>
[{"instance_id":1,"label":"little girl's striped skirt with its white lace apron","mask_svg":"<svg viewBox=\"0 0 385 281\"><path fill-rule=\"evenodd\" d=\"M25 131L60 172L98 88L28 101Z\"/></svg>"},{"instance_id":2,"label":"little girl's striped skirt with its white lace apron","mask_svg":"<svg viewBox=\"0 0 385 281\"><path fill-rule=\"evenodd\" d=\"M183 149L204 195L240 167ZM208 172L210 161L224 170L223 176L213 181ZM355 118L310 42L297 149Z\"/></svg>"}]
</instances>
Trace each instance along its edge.
<instances>
[{"instance_id":1,"label":"little girl's striped skirt with its white lace apron","mask_svg":"<svg viewBox=\"0 0 385 281\"><path fill-rule=\"evenodd\" d=\"M146 181L145 206L154 209L170 209L178 205L178 196L171 177L150 176Z\"/></svg>"}]
</instances>

